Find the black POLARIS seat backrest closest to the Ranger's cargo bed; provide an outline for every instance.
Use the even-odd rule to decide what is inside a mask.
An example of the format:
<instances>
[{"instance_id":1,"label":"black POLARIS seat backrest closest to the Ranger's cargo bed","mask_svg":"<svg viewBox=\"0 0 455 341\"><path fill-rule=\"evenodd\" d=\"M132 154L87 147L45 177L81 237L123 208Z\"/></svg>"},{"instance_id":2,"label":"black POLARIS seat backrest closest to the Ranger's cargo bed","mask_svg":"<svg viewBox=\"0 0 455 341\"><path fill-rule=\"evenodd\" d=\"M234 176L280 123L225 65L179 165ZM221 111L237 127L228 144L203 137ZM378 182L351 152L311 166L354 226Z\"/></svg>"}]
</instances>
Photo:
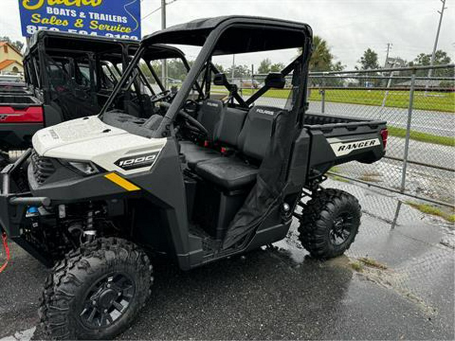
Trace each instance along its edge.
<instances>
[{"instance_id":1,"label":"black POLARIS seat backrest closest to the Ranger's cargo bed","mask_svg":"<svg viewBox=\"0 0 455 341\"><path fill-rule=\"evenodd\" d=\"M274 121L283 109L255 106L247 114L237 139L238 149L247 157L261 161L270 142Z\"/></svg>"}]
</instances>

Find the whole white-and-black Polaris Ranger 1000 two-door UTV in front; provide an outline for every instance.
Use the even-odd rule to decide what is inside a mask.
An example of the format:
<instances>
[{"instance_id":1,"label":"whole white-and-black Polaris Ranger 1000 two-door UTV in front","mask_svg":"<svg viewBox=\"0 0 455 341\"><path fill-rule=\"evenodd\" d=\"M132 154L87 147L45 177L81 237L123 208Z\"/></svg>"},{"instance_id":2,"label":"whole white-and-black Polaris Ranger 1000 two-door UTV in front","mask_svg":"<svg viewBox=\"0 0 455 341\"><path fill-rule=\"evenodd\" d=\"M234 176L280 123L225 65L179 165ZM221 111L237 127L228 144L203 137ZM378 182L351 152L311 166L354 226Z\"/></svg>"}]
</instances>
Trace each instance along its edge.
<instances>
[{"instance_id":1,"label":"whole white-and-black Polaris Ranger 1000 two-door UTV in front","mask_svg":"<svg viewBox=\"0 0 455 341\"><path fill-rule=\"evenodd\" d=\"M154 96L160 113L149 118L111 110L156 44L201 47L181 88ZM248 99L212 62L297 47L302 54ZM383 157L386 123L307 114L311 48L311 28L285 20L233 16L173 26L143 39L100 115L34 135L33 150L2 172L0 222L54 266L40 307L52 337L108 339L124 330L149 296L154 252L190 270L285 238L293 215L313 257L349 248L360 206L320 184L334 165ZM290 74L284 109L255 105ZM228 89L224 101L210 98L212 83ZM10 192L28 159L30 190Z\"/></svg>"}]
</instances>

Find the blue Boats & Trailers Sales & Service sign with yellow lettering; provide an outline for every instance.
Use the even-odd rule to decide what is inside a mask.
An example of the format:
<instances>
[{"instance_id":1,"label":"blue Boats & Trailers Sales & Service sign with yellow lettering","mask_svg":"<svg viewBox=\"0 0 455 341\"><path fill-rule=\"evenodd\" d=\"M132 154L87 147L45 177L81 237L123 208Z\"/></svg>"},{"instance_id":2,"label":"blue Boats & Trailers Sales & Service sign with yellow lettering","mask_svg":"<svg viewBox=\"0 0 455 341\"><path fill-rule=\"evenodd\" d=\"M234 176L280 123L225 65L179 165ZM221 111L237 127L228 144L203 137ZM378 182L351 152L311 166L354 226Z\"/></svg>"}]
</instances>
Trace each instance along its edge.
<instances>
[{"instance_id":1,"label":"blue Boats & Trailers Sales & Service sign with yellow lettering","mask_svg":"<svg viewBox=\"0 0 455 341\"><path fill-rule=\"evenodd\" d=\"M22 35L53 30L141 39L141 0L19 0Z\"/></svg>"}]
</instances>

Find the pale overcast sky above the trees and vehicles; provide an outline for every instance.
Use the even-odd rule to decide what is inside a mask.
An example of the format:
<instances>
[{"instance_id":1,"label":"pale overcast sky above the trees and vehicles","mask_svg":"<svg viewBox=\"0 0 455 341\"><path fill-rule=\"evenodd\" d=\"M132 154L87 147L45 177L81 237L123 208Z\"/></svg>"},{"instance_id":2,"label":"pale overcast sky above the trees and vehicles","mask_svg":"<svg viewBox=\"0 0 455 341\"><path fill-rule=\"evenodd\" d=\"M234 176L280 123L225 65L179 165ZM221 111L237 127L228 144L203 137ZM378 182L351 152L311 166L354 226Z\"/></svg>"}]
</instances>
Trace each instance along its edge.
<instances>
[{"instance_id":1,"label":"pale overcast sky above the trees and vehicles","mask_svg":"<svg viewBox=\"0 0 455 341\"><path fill-rule=\"evenodd\" d=\"M115 1L115 0L105 0ZM168 0L170 2L172 0ZM160 0L142 0L142 17L160 7ZM335 61L353 69L368 47L383 65L387 43L390 57L410 61L433 50L440 0L176 0L167 6L167 25L221 15L255 15L305 22L327 40ZM446 0L438 48L455 60L455 0ZM160 11L142 22L143 35L161 28ZM18 0L2 0L0 36L21 39ZM197 50L185 51L194 59ZM237 56L237 63L259 65L261 59L289 63L295 51ZM221 58L229 66L231 57Z\"/></svg>"}]
</instances>

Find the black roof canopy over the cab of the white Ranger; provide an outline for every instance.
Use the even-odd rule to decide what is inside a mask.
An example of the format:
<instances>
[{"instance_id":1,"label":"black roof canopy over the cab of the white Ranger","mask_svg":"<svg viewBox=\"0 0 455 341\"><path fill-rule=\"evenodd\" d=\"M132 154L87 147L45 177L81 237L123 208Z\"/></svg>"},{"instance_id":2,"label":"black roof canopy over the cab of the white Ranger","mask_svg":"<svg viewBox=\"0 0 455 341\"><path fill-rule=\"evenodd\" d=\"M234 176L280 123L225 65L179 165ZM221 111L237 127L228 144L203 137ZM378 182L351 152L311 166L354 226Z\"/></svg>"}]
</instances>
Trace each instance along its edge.
<instances>
[{"instance_id":1,"label":"black roof canopy over the cab of the white Ranger","mask_svg":"<svg viewBox=\"0 0 455 341\"><path fill-rule=\"evenodd\" d=\"M198 19L155 32L144 44L166 43L202 46L208 35L224 30L213 55L227 55L301 47L305 37L312 37L307 24L287 20L227 16Z\"/></svg>"}]
</instances>

